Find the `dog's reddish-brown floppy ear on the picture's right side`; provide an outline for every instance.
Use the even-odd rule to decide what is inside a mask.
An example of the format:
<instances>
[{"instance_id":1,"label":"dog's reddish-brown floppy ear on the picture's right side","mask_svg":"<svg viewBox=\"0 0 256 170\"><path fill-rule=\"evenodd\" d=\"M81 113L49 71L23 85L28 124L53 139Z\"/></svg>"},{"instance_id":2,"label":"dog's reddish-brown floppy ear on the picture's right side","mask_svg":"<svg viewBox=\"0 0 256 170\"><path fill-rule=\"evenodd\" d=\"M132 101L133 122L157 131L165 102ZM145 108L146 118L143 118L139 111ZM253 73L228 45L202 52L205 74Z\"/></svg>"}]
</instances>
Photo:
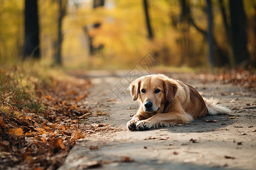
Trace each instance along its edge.
<instances>
[{"instance_id":1,"label":"dog's reddish-brown floppy ear on the picture's right side","mask_svg":"<svg viewBox=\"0 0 256 170\"><path fill-rule=\"evenodd\" d=\"M177 85L174 82L171 82L171 80L164 79L163 87L166 95L166 101L171 103L174 101L174 96L177 92Z\"/></svg>"}]
</instances>

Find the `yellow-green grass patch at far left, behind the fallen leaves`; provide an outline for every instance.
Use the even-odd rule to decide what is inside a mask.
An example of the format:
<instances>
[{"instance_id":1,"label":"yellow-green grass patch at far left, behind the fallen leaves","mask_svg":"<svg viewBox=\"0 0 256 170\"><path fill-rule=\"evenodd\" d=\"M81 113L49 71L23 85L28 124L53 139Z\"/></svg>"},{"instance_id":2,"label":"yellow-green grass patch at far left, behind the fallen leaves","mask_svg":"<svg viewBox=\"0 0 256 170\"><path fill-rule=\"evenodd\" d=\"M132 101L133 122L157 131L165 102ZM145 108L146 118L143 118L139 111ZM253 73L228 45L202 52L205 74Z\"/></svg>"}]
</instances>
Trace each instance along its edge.
<instances>
[{"instance_id":1,"label":"yellow-green grass patch at far left, behind the fallen leaves","mask_svg":"<svg viewBox=\"0 0 256 170\"><path fill-rule=\"evenodd\" d=\"M14 108L40 113L45 107L35 95L36 84L51 82L46 67L34 63L0 64L1 113L17 116ZM40 70L43 69L43 70Z\"/></svg>"}]
</instances>

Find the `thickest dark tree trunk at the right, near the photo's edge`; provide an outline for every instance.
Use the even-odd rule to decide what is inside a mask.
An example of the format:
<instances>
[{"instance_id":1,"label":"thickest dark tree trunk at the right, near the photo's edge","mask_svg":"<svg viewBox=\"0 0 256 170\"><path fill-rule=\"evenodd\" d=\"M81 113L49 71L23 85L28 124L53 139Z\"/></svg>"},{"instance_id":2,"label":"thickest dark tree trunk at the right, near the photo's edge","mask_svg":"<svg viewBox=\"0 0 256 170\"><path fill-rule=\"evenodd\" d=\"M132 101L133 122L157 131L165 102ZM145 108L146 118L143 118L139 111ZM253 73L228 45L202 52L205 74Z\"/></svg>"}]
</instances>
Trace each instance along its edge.
<instances>
[{"instance_id":1,"label":"thickest dark tree trunk at the right, near the photo's edge","mask_svg":"<svg viewBox=\"0 0 256 170\"><path fill-rule=\"evenodd\" d=\"M247 50L246 16L242 0L229 0L232 51L236 66L249 64Z\"/></svg>"}]
</instances>

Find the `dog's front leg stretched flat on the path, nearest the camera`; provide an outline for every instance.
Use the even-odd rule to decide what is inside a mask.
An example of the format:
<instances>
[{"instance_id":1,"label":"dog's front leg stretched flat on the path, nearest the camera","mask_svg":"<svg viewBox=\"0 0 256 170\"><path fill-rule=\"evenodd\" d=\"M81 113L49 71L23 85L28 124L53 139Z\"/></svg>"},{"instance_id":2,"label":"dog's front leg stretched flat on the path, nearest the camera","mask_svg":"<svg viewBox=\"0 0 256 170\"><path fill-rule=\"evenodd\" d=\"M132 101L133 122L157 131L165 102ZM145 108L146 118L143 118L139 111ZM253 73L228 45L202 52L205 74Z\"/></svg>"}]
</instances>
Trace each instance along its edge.
<instances>
[{"instance_id":1,"label":"dog's front leg stretched flat on the path, nearest the camera","mask_svg":"<svg viewBox=\"0 0 256 170\"><path fill-rule=\"evenodd\" d=\"M185 112L158 113L146 120L138 121L136 123L135 130L149 130L150 128L156 128L159 125L170 126L176 124L187 124L192 120L192 116Z\"/></svg>"}]
</instances>

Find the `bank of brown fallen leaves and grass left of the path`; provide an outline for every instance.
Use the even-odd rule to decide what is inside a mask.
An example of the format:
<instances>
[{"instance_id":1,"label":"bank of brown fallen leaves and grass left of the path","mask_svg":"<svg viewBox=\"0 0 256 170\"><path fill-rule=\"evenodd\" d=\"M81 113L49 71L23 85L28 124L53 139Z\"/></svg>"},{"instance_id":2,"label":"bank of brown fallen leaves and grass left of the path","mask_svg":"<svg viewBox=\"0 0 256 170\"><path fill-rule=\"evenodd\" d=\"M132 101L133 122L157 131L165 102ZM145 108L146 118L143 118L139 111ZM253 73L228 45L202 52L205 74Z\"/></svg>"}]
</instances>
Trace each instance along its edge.
<instances>
[{"instance_id":1,"label":"bank of brown fallen leaves and grass left of the path","mask_svg":"<svg viewBox=\"0 0 256 170\"><path fill-rule=\"evenodd\" d=\"M56 169L77 140L110 129L84 123L91 114L84 107L88 81L67 78L49 85L21 76L23 82L1 70L0 169Z\"/></svg>"}]
</instances>

